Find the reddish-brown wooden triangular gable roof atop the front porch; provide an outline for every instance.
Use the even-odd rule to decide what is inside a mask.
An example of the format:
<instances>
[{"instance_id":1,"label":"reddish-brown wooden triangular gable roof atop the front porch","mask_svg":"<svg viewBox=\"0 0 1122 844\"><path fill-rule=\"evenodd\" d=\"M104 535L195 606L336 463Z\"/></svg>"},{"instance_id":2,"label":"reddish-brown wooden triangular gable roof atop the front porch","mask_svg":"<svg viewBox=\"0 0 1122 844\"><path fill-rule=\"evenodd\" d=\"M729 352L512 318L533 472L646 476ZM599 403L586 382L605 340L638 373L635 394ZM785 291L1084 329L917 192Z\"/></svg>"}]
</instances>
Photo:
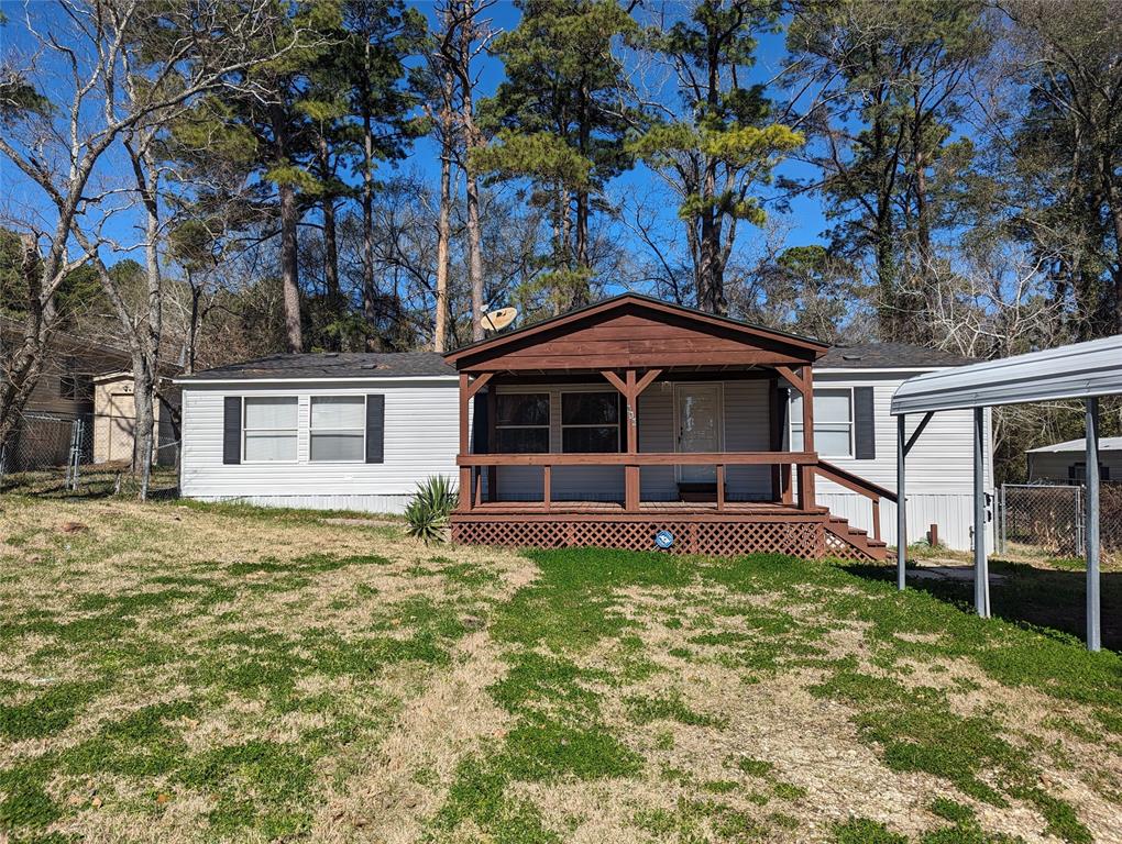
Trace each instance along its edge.
<instances>
[{"instance_id":1,"label":"reddish-brown wooden triangular gable roof atop the front porch","mask_svg":"<svg viewBox=\"0 0 1122 844\"><path fill-rule=\"evenodd\" d=\"M827 349L809 337L627 293L461 346L444 360L461 371L798 367Z\"/></svg>"}]
</instances>

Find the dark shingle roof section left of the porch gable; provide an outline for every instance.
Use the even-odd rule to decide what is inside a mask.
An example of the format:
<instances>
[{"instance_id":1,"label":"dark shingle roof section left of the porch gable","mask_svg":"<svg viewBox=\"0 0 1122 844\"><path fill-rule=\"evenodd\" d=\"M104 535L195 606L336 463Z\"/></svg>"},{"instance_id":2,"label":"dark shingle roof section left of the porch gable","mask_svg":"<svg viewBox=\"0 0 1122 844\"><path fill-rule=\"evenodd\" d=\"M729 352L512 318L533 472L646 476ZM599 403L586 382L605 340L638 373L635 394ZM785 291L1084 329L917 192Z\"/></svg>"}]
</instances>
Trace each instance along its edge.
<instances>
[{"instance_id":1,"label":"dark shingle roof section left of the porch gable","mask_svg":"<svg viewBox=\"0 0 1122 844\"><path fill-rule=\"evenodd\" d=\"M454 375L436 352L322 352L311 354L273 354L242 363L228 363L183 381L332 379L332 378L425 378Z\"/></svg>"}]
</instances>

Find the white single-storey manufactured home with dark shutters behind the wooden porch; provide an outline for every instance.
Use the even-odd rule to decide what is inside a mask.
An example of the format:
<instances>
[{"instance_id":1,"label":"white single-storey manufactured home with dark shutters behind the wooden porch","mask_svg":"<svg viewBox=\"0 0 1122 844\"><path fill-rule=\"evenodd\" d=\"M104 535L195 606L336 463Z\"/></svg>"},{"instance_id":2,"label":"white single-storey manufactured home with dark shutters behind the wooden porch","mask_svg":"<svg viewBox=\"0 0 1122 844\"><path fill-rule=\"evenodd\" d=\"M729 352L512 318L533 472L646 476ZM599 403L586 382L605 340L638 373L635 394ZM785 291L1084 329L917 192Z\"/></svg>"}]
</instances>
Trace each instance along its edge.
<instances>
[{"instance_id":1,"label":"white single-storey manufactured home with dark shutters behind the wooden porch","mask_svg":"<svg viewBox=\"0 0 1122 844\"><path fill-rule=\"evenodd\" d=\"M619 331L610 319L655 313L654 304L634 296L596 307L589 318L599 319L595 328L605 335ZM659 308L674 319L700 319L687 308ZM745 331L767 331L726 322ZM783 342L781 333L774 334ZM813 479L788 471L784 480L779 466L767 465L776 461L762 457L804 456L810 449L804 451L803 426L811 418L815 465L824 467L812 506L838 517L835 521L848 520L854 532L894 545L891 499L882 504L867 491L854 491L852 477L849 485L830 477L864 479L870 489L891 495L896 447L895 421L889 414L892 393L912 375L967 361L901 344L808 347L817 359L813 407L807 411L800 391L775 371L699 365L690 371L646 370L644 389L631 393L634 420L626 391L609 380L610 367L601 374L595 362L591 372L586 367L564 377L539 372L535 378L521 369L485 379L486 384L471 391L462 420L459 388L465 375L454 359L459 352L448 361L435 353L408 352L274 355L231 364L178 381L181 491L210 501L401 512L417 482L429 475L459 476L463 485L471 462L460 447L466 438L467 451L480 465L489 462L478 456L485 454L517 454L519 460L472 469L467 473L471 494L461 498L484 509L503 502L511 518L519 508L528 513L543 500L554 510L557 502L569 502L587 511L580 517L587 520L628 495L631 421L634 453L641 455L631 462L644 464L636 472L635 494L647 513L690 502L684 506L695 517L706 507L727 504L729 512L748 519L749 512L771 507L769 502L791 502L799 494L800 477ZM703 455L716 455L716 465L701 463ZM929 526L937 525L942 542L971 547L972 460L969 411L932 419L909 454L909 541L922 539ZM553 462L557 465L550 465ZM880 506L879 525L874 501ZM711 516L723 518L721 510Z\"/></svg>"}]
</instances>

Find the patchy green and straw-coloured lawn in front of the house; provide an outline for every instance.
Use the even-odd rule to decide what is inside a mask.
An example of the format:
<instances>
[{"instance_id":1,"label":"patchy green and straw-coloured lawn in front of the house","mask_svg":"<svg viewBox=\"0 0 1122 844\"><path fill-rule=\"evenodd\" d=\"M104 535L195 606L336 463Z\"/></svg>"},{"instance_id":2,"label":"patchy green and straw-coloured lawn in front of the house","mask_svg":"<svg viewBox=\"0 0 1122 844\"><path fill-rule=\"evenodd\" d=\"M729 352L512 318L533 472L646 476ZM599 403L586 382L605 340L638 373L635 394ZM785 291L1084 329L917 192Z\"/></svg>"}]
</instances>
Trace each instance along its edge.
<instances>
[{"instance_id":1,"label":"patchy green and straw-coloured lawn in front of the house","mask_svg":"<svg viewBox=\"0 0 1122 844\"><path fill-rule=\"evenodd\" d=\"M0 841L1122 841L1119 655L885 574L4 495Z\"/></svg>"}]
</instances>

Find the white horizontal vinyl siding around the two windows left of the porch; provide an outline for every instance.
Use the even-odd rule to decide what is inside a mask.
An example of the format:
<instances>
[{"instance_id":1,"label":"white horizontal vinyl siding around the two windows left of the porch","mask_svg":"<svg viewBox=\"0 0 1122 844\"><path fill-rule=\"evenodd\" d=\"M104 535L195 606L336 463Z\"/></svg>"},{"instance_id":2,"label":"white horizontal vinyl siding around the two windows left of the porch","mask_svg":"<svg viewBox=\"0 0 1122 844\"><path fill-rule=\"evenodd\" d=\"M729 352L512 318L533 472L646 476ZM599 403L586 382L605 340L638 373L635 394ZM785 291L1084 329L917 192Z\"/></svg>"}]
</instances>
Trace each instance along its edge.
<instances>
[{"instance_id":1,"label":"white horizontal vinyl siding around the two windows left of the porch","mask_svg":"<svg viewBox=\"0 0 1122 844\"><path fill-rule=\"evenodd\" d=\"M385 462L312 461L312 397L386 397ZM227 396L296 399L296 460L223 465L222 418ZM204 500L245 500L283 507L401 511L429 475L458 479L457 381L371 379L361 382L183 386L181 490ZM365 421L365 420L364 420Z\"/></svg>"}]
</instances>

